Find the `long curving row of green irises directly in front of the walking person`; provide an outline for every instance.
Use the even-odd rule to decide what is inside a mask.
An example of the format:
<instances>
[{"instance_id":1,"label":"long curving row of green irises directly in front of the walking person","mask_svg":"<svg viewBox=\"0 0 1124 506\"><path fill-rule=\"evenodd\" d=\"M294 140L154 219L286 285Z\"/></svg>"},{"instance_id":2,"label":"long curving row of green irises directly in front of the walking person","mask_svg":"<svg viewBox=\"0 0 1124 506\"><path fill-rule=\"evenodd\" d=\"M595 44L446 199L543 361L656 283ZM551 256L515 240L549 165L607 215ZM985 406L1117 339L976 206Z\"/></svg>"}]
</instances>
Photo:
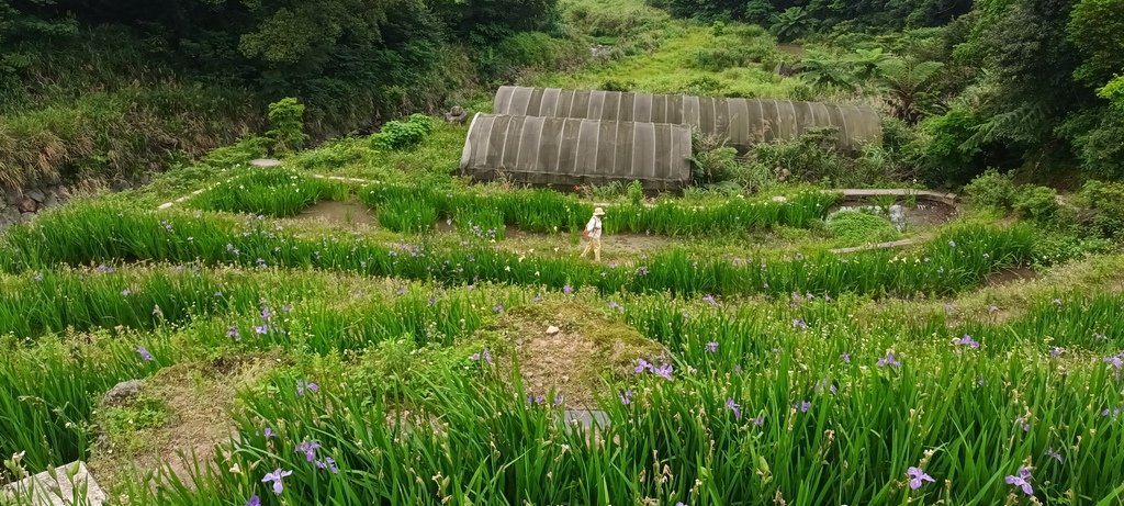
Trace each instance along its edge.
<instances>
[{"instance_id":1,"label":"long curving row of green irises directly in front of the walking person","mask_svg":"<svg viewBox=\"0 0 1124 506\"><path fill-rule=\"evenodd\" d=\"M997 269L1030 262L1034 241L1034 231L1025 225L962 226L912 254L873 251L746 260L695 257L671 250L638 265L617 266L518 255L488 244L391 246L354 235L302 238L268 220L239 224L198 211L81 204L9 231L0 245L6 252L0 269L165 261L316 268L442 284L490 281L563 290L588 286L601 293L936 296L976 287Z\"/></svg>"}]
</instances>

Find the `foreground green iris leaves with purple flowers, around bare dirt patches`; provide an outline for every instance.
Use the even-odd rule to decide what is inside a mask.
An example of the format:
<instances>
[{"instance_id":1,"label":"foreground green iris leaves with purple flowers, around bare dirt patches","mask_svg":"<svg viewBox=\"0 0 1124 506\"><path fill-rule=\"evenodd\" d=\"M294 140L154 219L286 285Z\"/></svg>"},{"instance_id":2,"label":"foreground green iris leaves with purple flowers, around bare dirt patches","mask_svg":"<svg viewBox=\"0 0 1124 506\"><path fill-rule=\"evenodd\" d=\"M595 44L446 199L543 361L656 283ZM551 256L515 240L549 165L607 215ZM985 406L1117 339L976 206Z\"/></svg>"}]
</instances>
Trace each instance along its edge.
<instances>
[{"instance_id":1,"label":"foreground green iris leaves with purple flowers, around bare dirt patches","mask_svg":"<svg viewBox=\"0 0 1124 506\"><path fill-rule=\"evenodd\" d=\"M352 504L348 497L386 504L438 502L439 482L393 479L409 468L447 477L444 494L451 497L561 504L620 503L634 494L726 503L745 502L761 491L767 497L807 497L799 490L831 502L887 504L904 497L906 489L895 484L912 466L924 467L937 480L962 484L926 486L912 497L994 504L1009 490L1003 477L1015 473L1025 459L1042 484L1036 487L1040 497L1073 489L1100 499L1113 497L1111 484L1121 477L1089 479L1091 470L1124 469L1115 466L1124 459L1118 418L1100 415L1124 405L1116 387L1118 372L1104 360L1124 345L1115 325L1124 300L1118 295L1090 296L1085 292L1090 287L1067 291L1044 282L1028 288L1023 313L1006 320L988 313L953 320L941 304L895 308L854 297L801 295L743 306L736 299L670 300L662 295L547 295L549 304L600 305L601 314L635 327L674 356L671 382L652 373L609 379L599 406L609 414L610 425L602 428L597 440L601 443L591 443L561 425L550 400L528 404L517 378L509 380L502 369L473 361L473 349L457 345L496 317L497 304L502 310L538 304L534 287L465 287L442 295L434 286L399 291L392 282L323 272L176 272L171 266L151 273L51 271L45 280L70 280L79 296L90 277L127 278L138 293L164 290L166 279L178 277L199 278L211 283L207 290L218 286L224 292L245 293L242 298L261 295L273 309L270 328L254 332L263 325L263 315L251 304L144 334L93 329L72 343L54 337L31 347L4 343L15 352L0 377L0 434L6 435L0 450L34 450L25 457L30 469L82 457L92 435L87 425L90 399L120 379L254 351L289 350L297 358L297 365L243 392L235 413L238 451L211 471L196 471L198 488L165 489L162 502L169 504L224 504L232 494L274 500L260 480L277 467L294 471L285 479L288 500L315 497L343 504ZM291 286L294 280L305 286ZM9 280L6 289L29 291L36 282ZM85 289L100 290L97 284ZM285 311L278 305L289 290L305 293L307 300L294 300ZM362 300L343 296L356 290L365 293ZM100 298L115 299L116 293ZM867 307L881 309L874 318L856 316ZM10 326L21 316L0 315L0 323ZM103 318L99 324L114 328L117 323ZM228 336L232 324L242 331L239 340ZM981 346L954 344L964 334ZM417 340L413 346L459 350L460 356L393 352L391 343L400 336ZM707 347L711 342L717 343L714 351ZM145 361L138 346L154 360ZM406 350L420 350L413 346ZM1062 350L1057 356L1054 346ZM401 365L356 369L373 363L365 353L354 354L364 349L374 354L370 360L383 355ZM891 352L901 367L878 367ZM301 359L306 353L321 359ZM849 360L841 359L844 354ZM436 362L423 365L418 360ZM97 365L76 369L79 363ZM406 373L405 367L429 372L386 374ZM1064 376L1055 372L1058 367L1064 367ZM42 370L75 373L33 379ZM298 396L298 381L317 382L320 390ZM1023 394L1012 394L1009 385L1018 385ZM618 400L623 390L632 391L628 405ZM564 390L561 394L564 398ZM38 400L28 401L33 398ZM807 413L790 407L805 400L812 403ZM727 401L737 405L741 418ZM439 425L430 426L430 416ZM759 417L761 426L753 422ZM396 422L388 425L388 418ZM262 435L266 426L275 437ZM1091 443L1073 444L1078 436ZM318 442L317 459L332 457L341 473L305 461L294 452L301 441ZM1048 449L1058 451L1064 463L1044 457ZM926 458L926 451L933 455ZM642 470L660 475L664 464L673 471L660 487L640 480ZM235 467L252 471L228 471ZM744 469L761 473L745 482ZM369 472L383 473L383 479L363 479ZM547 472L554 478L545 478ZM696 487L696 479L704 486ZM601 486L563 485L580 482Z\"/></svg>"}]
</instances>

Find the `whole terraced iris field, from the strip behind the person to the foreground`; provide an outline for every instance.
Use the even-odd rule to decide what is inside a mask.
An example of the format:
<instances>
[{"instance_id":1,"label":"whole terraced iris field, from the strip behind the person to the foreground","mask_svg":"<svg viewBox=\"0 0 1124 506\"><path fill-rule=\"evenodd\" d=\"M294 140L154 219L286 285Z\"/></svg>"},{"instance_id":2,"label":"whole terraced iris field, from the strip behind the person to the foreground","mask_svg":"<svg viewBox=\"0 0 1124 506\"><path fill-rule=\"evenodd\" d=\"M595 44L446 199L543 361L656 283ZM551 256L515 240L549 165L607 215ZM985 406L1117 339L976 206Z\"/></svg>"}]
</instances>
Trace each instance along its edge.
<instances>
[{"instance_id":1,"label":"whole terraced iris field, from the strip behind the person to the foreground","mask_svg":"<svg viewBox=\"0 0 1124 506\"><path fill-rule=\"evenodd\" d=\"M762 231L836 201L804 191L615 202L607 243L664 242L593 263L575 197L242 172L169 209L75 202L4 234L12 470L85 460L114 504L1124 493L1120 256L994 284L1035 261L1036 231L972 214L905 250L770 247ZM289 218L321 199L373 218Z\"/></svg>"}]
</instances>

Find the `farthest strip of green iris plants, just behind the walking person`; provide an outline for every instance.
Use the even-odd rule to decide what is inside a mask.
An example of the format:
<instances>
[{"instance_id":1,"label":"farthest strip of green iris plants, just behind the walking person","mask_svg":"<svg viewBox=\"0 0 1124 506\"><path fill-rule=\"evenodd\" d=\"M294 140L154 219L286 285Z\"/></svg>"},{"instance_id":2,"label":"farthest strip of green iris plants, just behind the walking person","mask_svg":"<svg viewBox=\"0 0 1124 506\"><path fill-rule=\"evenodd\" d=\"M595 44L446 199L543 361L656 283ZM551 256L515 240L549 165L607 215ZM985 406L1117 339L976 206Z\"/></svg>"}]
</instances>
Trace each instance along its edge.
<instances>
[{"instance_id":1,"label":"farthest strip of green iris plants, just behind the walking person","mask_svg":"<svg viewBox=\"0 0 1124 506\"><path fill-rule=\"evenodd\" d=\"M319 200L342 200L352 193L377 210L380 224L393 232L424 232L432 229L439 219L450 219L457 227L496 231L500 238L505 226L535 233L580 231L595 207L574 196L550 190L497 192L377 181L362 184L279 169L248 169L185 204L202 210L285 217ZM785 200L733 198L701 206L674 201L608 204L604 207L613 219L607 219L605 227L609 234L669 236L736 234L778 225L806 228L826 216L840 198L836 192L801 191Z\"/></svg>"}]
</instances>

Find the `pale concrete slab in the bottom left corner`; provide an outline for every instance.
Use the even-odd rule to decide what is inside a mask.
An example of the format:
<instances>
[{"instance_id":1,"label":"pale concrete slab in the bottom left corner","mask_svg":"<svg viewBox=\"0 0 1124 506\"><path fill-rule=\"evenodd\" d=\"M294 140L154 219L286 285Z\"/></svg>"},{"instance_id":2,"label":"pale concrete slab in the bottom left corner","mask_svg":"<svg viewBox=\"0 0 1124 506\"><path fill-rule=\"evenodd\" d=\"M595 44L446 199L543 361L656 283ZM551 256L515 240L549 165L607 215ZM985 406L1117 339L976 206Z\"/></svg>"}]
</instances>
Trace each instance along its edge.
<instances>
[{"instance_id":1,"label":"pale concrete slab in the bottom left corner","mask_svg":"<svg viewBox=\"0 0 1124 506\"><path fill-rule=\"evenodd\" d=\"M20 506L101 506L106 493L93 480L85 462L71 462L0 488L0 499Z\"/></svg>"}]
</instances>

